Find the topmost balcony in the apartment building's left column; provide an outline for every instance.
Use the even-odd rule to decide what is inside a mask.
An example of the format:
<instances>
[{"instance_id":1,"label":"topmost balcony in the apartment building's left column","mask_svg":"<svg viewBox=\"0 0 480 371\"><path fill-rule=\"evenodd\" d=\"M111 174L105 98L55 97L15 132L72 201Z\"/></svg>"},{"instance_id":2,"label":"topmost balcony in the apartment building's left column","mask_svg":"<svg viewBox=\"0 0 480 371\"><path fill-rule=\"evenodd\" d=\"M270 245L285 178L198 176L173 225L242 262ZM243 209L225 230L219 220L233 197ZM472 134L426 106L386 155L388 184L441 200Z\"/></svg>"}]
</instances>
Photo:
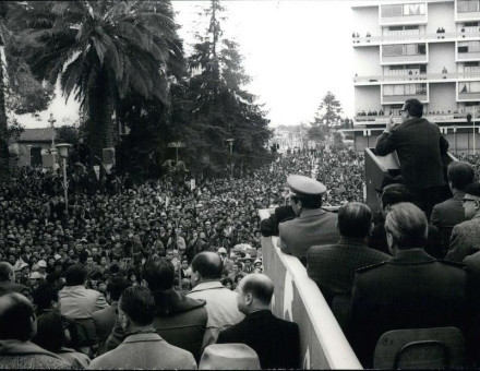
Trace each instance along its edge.
<instances>
[{"instance_id":1,"label":"topmost balcony in the apartment building's left column","mask_svg":"<svg viewBox=\"0 0 480 371\"><path fill-rule=\"evenodd\" d=\"M407 4L381 4L380 25L427 24L428 7L425 2Z\"/></svg>"}]
</instances>

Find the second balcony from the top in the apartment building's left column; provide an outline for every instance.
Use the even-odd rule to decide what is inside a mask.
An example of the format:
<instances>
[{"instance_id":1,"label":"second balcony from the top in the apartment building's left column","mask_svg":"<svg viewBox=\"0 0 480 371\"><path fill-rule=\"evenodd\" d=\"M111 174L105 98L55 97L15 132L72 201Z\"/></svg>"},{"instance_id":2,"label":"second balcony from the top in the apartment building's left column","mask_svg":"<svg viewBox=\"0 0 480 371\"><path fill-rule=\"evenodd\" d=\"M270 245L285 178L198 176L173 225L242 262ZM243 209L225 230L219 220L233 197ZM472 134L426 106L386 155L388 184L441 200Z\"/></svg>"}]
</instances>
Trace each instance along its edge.
<instances>
[{"instance_id":1,"label":"second balcony from the top in the apartment building's left column","mask_svg":"<svg viewBox=\"0 0 480 371\"><path fill-rule=\"evenodd\" d=\"M428 63L427 44L382 45L380 64Z\"/></svg>"}]
</instances>

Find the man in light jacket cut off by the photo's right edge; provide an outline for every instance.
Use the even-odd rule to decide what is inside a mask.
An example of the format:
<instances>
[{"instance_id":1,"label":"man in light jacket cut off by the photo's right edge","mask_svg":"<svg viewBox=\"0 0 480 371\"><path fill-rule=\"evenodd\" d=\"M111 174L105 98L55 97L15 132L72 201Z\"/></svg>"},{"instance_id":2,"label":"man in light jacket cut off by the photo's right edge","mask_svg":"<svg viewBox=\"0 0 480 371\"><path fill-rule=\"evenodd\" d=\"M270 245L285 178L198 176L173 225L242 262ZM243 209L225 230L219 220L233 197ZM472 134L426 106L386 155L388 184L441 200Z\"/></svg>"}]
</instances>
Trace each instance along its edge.
<instances>
[{"instance_id":1,"label":"man in light jacket cut off by the photo's right edge","mask_svg":"<svg viewBox=\"0 0 480 371\"><path fill-rule=\"evenodd\" d=\"M480 182L465 188L461 199L467 222L457 224L452 230L448 253L445 259L461 262L466 256L480 251Z\"/></svg>"}]
</instances>

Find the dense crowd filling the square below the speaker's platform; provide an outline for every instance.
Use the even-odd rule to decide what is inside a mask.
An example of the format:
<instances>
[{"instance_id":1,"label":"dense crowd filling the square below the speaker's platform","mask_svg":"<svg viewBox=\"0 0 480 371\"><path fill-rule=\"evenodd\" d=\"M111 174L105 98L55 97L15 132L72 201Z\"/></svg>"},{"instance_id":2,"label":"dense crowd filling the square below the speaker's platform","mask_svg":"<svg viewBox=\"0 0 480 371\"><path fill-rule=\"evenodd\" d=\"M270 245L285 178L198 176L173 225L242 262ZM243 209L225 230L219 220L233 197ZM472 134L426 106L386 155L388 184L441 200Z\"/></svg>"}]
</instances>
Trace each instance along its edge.
<instances>
[{"instance_id":1,"label":"dense crowd filling the square below the speaker's platform","mask_svg":"<svg viewBox=\"0 0 480 371\"><path fill-rule=\"evenodd\" d=\"M479 172L479 156L458 157ZM144 286L149 277L146 266L152 262L168 262L175 290L193 292L196 273L192 262L203 252L221 260L219 283L229 290L238 289L242 278L263 272L257 210L285 204L287 177L297 173L322 181L327 189L323 205L362 202L363 161L363 155L352 151L297 152L241 179L202 179L196 187L170 176L134 183L128 173L120 177L115 171L107 172L101 183L93 171L80 166L69 175L68 207L60 171L22 168L0 185L0 262L9 263L14 282L23 285L19 286L21 292L35 306L39 333L33 340L50 349L49 325L61 321L72 336L57 344L57 354L64 349L63 359L85 368L110 350L113 323L100 334L95 326L88 328L60 315L76 310L59 312L58 302L74 286L72 282L82 282L79 266L85 270L85 288L96 292L98 310L118 302L120 288ZM0 271L0 280L8 282L8 268ZM0 286L0 291L9 291ZM118 344L121 339L117 337ZM200 354L192 354L199 362Z\"/></svg>"}]
</instances>

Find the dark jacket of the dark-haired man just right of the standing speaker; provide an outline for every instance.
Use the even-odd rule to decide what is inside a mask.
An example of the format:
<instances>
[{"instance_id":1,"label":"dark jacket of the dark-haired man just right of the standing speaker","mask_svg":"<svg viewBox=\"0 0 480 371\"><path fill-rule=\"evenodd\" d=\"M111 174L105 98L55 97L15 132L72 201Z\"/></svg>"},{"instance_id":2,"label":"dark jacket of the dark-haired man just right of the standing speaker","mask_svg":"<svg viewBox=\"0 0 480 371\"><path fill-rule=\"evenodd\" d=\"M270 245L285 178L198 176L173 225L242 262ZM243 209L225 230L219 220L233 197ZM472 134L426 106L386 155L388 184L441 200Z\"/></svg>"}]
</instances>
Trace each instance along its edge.
<instances>
[{"instance_id":1,"label":"dark jacket of the dark-haired man just right of the standing speaker","mask_svg":"<svg viewBox=\"0 0 480 371\"><path fill-rule=\"evenodd\" d=\"M455 192L452 199L448 199L433 206L430 223L439 228L441 244L445 251L448 251L452 229L463 222L466 222L461 199L465 192Z\"/></svg>"}]
</instances>

